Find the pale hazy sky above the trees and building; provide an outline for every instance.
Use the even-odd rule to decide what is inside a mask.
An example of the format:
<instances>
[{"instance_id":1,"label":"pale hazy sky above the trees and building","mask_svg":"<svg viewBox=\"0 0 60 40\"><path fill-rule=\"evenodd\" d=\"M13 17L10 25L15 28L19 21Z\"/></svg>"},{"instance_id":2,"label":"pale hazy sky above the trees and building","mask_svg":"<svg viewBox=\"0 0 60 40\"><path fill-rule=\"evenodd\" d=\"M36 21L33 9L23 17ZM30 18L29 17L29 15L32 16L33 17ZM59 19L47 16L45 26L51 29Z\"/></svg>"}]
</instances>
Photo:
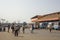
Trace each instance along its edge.
<instances>
[{"instance_id":1,"label":"pale hazy sky above the trees and building","mask_svg":"<svg viewBox=\"0 0 60 40\"><path fill-rule=\"evenodd\" d=\"M0 0L0 19L30 22L35 15L60 11L60 0Z\"/></svg>"}]
</instances>

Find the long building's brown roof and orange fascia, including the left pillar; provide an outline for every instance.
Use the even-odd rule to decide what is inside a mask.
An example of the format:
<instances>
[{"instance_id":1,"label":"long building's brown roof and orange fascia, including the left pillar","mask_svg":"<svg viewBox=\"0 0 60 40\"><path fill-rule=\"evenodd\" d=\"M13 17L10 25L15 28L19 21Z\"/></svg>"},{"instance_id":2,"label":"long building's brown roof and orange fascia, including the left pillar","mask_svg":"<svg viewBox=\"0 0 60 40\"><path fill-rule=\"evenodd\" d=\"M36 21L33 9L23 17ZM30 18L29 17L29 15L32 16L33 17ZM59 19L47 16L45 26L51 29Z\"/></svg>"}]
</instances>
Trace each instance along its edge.
<instances>
[{"instance_id":1,"label":"long building's brown roof and orange fascia, including the left pillar","mask_svg":"<svg viewBox=\"0 0 60 40\"><path fill-rule=\"evenodd\" d=\"M43 16L37 15L31 18L31 21L35 23L35 27L39 27L40 23L60 23L60 12L50 13Z\"/></svg>"}]
</instances>

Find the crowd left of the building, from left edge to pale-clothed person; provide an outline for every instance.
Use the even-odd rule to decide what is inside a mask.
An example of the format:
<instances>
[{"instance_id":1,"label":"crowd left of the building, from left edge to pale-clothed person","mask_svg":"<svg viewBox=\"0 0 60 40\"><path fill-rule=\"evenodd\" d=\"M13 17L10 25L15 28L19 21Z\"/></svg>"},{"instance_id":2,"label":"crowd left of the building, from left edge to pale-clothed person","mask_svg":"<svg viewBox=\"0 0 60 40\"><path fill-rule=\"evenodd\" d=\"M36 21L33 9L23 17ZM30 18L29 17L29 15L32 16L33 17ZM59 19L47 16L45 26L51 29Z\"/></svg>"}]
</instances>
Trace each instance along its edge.
<instances>
[{"instance_id":1,"label":"crowd left of the building, from left edge to pale-clothed person","mask_svg":"<svg viewBox=\"0 0 60 40\"><path fill-rule=\"evenodd\" d=\"M6 28L7 28L7 32L8 33L12 33L14 36L18 36L20 31L21 31L21 28L22 28L22 32L23 34L25 33L25 29L26 29L26 25L27 23L26 22L23 22L22 25L18 24L18 23L12 23L12 24L8 24L7 26L3 26L0 24L0 30L1 31L6 31ZM33 29L34 29L34 26L31 25L31 27L29 28L29 30L31 31L31 33L33 33ZM11 31L12 30L12 31Z\"/></svg>"}]
</instances>

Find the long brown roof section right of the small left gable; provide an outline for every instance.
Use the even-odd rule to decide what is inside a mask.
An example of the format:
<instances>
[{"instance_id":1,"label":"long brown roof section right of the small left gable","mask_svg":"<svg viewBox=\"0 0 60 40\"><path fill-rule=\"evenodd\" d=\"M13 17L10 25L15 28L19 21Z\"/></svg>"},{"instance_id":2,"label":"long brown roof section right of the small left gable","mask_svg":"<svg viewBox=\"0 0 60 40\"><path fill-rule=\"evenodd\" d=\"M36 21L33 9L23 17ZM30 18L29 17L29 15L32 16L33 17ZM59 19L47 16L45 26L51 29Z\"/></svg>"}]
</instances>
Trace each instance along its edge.
<instances>
[{"instance_id":1,"label":"long brown roof section right of the small left gable","mask_svg":"<svg viewBox=\"0 0 60 40\"><path fill-rule=\"evenodd\" d=\"M38 22L50 22L50 21L60 21L60 12L50 13L43 15L43 18L40 18Z\"/></svg>"}]
</instances>

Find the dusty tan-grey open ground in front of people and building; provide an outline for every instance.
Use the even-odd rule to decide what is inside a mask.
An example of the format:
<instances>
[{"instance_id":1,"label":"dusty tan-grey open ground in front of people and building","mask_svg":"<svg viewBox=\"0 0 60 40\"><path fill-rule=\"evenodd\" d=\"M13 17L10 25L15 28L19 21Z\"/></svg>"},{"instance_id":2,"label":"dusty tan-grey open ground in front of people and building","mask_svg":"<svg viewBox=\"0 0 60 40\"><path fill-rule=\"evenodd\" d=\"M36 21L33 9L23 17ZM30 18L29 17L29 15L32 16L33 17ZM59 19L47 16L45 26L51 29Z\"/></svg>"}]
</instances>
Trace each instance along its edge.
<instances>
[{"instance_id":1,"label":"dusty tan-grey open ground in front of people and building","mask_svg":"<svg viewBox=\"0 0 60 40\"><path fill-rule=\"evenodd\" d=\"M50 33L48 30L34 30L34 33L31 34L28 29L26 33L19 33L18 37L15 37L11 31L0 32L0 40L60 40L60 31L52 30Z\"/></svg>"}]
</instances>

